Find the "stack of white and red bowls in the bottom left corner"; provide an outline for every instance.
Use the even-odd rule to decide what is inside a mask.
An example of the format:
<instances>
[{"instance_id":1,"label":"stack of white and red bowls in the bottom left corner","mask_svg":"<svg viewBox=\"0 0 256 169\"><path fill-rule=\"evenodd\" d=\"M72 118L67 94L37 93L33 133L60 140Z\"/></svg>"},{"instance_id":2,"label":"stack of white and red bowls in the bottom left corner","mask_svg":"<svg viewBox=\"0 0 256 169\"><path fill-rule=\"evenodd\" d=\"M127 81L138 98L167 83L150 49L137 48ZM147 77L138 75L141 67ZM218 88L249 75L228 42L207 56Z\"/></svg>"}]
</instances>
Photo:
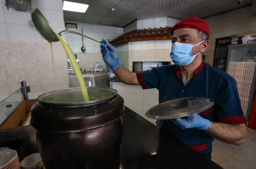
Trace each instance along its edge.
<instances>
[{"instance_id":1,"label":"stack of white and red bowls in the bottom left corner","mask_svg":"<svg viewBox=\"0 0 256 169\"><path fill-rule=\"evenodd\" d=\"M17 151L7 147L0 149L0 169L20 169Z\"/></svg>"}]
</instances>

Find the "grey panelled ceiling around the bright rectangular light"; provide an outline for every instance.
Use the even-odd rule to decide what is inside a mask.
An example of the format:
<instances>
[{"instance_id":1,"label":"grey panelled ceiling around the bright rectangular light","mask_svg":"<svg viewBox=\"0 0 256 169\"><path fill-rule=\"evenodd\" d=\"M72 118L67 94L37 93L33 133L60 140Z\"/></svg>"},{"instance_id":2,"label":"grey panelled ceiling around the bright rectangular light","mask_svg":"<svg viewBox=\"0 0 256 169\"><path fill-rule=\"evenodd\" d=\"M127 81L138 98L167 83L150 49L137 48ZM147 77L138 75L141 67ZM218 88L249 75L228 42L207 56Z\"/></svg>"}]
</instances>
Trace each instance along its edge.
<instances>
[{"instance_id":1,"label":"grey panelled ceiling around the bright rectangular light","mask_svg":"<svg viewBox=\"0 0 256 169\"><path fill-rule=\"evenodd\" d=\"M63 1L63 0L62 0ZM168 16L208 18L252 5L253 0L67 0L89 4L85 13L63 10L65 21L125 26L136 19ZM111 11L115 8L115 12Z\"/></svg>"}]
</instances>

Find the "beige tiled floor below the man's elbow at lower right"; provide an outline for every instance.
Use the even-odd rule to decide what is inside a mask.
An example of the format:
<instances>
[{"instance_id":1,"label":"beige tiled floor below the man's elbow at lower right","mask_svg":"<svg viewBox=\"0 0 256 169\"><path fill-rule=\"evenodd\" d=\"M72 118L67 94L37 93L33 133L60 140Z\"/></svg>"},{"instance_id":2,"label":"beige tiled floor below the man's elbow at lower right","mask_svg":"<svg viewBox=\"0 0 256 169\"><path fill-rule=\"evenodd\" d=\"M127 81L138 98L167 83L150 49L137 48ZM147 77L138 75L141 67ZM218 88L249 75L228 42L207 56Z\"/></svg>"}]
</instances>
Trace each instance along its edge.
<instances>
[{"instance_id":1,"label":"beige tiled floor below the man's elbow at lower right","mask_svg":"<svg viewBox=\"0 0 256 169\"><path fill-rule=\"evenodd\" d=\"M241 146L215 139L212 161L224 169L256 169L256 130L247 127L246 141Z\"/></svg>"}]
</instances>

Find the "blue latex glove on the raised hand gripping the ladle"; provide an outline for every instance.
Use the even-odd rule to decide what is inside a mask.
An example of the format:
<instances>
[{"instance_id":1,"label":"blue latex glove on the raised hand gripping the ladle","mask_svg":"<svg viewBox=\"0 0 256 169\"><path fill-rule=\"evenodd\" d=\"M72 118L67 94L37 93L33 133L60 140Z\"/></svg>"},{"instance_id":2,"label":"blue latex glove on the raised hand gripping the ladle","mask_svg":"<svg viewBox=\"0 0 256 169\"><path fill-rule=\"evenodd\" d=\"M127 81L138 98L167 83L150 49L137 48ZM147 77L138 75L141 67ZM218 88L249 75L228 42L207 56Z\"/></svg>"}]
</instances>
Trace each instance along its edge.
<instances>
[{"instance_id":1,"label":"blue latex glove on the raised hand gripping the ladle","mask_svg":"<svg viewBox=\"0 0 256 169\"><path fill-rule=\"evenodd\" d=\"M104 38L101 42L101 53L104 62L112 70L116 70L121 64L117 50L111 44L109 44Z\"/></svg>"}]
</instances>

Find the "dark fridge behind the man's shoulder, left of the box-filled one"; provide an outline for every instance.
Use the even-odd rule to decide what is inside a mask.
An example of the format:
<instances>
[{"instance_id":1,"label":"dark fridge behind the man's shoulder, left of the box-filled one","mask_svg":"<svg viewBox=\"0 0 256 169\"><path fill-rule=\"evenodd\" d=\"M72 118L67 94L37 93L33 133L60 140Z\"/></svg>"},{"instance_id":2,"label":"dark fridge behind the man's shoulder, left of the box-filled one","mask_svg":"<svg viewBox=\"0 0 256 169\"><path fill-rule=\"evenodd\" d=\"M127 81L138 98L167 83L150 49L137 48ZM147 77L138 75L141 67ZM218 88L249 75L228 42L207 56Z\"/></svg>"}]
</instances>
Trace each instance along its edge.
<instances>
[{"instance_id":1,"label":"dark fridge behind the man's shoulder, left of the box-filled one","mask_svg":"<svg viewBox=\"0 0 256 169\"><path fill-rule=\"evenodd\" d=\"M226 71L230 37L231 36L224 37L224 38L217 38L215 40L213 67L219 70Z\"/></svg>"}]
</instances>

